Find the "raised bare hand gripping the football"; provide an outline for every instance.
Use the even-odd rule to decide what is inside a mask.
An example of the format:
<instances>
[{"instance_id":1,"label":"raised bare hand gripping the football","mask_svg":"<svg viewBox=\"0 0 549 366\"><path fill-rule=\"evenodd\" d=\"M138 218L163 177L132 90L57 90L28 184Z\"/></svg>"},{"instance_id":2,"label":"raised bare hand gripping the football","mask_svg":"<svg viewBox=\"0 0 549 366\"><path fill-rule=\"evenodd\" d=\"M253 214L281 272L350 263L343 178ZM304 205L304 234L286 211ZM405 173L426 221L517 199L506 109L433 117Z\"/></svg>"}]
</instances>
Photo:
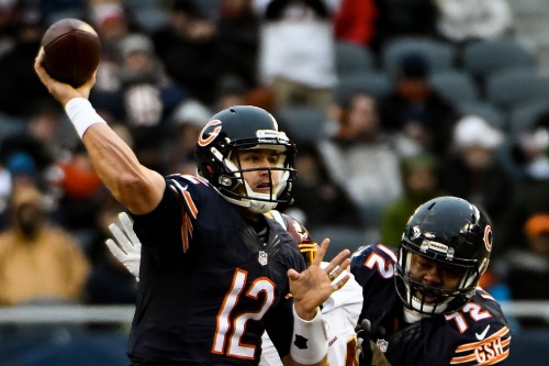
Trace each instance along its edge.
<instances>
[{"instance_id":1,"label":"raised bare hand gripping the football","mask_svg":"<svg viewBox=\"0 0 549 366\"><path fill-rule=\"evenodd\" d=\"M47 74L41 64L42 55L37 55L34 59L34 71L38 76L40 80L47 88L49 93L61 104L65 106L72 98L86 98L90 96L91 88L96 84L96 73L86 81L81 87L77 89L72 88L70 85L55 80Z\"/></svg>"}]
</instances>

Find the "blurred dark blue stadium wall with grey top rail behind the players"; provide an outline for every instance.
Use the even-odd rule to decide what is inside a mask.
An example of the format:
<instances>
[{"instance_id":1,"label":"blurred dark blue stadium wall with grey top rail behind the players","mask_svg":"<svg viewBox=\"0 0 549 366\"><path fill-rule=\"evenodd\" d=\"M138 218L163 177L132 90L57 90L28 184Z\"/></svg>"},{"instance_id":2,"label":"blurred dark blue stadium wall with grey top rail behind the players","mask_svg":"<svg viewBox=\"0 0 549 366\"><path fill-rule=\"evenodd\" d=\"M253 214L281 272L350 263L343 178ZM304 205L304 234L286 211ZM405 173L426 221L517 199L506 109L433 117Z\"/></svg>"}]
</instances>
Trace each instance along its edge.
<instances>
[{"instance_id":1,"label":"blurred dark blue stadium wall with grey top rail behind the players","mask_svg":"<svg viewBox=\"0 0 549 366\"><path fill-rule=\"evenodd\" d=\"M549 300L502 306L513 331L505 365L549 365L549 326L516 328L523 319L549 324ZM133 306L0 307L0 366L124 366L134 311Z\"/></svg>"}]
</instances>

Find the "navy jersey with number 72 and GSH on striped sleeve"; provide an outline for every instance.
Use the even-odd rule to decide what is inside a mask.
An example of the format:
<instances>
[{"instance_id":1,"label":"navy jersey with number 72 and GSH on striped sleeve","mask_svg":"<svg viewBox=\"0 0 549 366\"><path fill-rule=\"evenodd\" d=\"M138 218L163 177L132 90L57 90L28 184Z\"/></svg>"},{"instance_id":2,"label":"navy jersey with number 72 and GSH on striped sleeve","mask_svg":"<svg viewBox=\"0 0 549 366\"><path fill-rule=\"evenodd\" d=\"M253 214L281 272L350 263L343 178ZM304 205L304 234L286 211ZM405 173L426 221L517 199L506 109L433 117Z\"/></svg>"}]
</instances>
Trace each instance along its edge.
<instances>
[{"instance_id":1,"label":"navy jersey with number 72 and GSH on striped sleeve","mask_svg":"<svg viewBox=\"0 0 549 366\"><path fill-rule=\"evenodd\" d=\"M391 365L498 365L508 356L506 319L500 304L480 288L459 311L405 323L395 267L396 255L381 244L360 249L351 262L363 292L360 320L370 320L372 341Z\"/></svg>"}]
</instances>

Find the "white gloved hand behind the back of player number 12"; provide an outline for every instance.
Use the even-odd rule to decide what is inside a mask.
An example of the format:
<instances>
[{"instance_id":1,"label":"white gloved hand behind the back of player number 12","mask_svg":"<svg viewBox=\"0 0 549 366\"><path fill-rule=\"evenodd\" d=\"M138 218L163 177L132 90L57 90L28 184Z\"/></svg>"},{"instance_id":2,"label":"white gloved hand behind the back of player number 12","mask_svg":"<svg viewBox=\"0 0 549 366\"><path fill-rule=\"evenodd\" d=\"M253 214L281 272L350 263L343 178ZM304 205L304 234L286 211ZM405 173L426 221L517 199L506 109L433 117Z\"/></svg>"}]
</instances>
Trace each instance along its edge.
<instances>
[{"instance_id":1,"label":"white gloved hand behind the back of player number 12","mask_svg":"<svg viewBox=\"0 0 549 366\"><path fill-rule=\"evenodd\" d=\"M109 251L139 280L141 242L133 229L133 221L125 212L119 213L119 221L109 225L114 240L105 241Z\"/></svg>"}]
</instances>

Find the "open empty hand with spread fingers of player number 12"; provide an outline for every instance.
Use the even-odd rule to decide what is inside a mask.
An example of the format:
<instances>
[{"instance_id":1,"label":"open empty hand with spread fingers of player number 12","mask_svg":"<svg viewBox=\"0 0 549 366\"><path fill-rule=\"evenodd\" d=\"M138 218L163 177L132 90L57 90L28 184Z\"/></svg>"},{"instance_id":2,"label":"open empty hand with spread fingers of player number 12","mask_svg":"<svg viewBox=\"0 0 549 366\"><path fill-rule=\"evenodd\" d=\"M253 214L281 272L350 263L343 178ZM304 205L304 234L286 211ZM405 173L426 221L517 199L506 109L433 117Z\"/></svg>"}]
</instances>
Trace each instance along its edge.
<instances>
[{"instance_id":1,"label":"open empty hand with spread fingers of player number 12","mask_svg":"<svg viewBox=\"0 0 549 366\"><path fill-rule=\"evenodd\" d=\"M329 240L325 239L318 248L316 258L307 269L302 273L294 269L288 270L295 312L303 320L312 320L316 315L318 307L349 280L347 274L334 281L336 277L347 270L350 264L349 249L341 251L326 267L321 268L328 245Z\"/></svg>"}]
</instances>

